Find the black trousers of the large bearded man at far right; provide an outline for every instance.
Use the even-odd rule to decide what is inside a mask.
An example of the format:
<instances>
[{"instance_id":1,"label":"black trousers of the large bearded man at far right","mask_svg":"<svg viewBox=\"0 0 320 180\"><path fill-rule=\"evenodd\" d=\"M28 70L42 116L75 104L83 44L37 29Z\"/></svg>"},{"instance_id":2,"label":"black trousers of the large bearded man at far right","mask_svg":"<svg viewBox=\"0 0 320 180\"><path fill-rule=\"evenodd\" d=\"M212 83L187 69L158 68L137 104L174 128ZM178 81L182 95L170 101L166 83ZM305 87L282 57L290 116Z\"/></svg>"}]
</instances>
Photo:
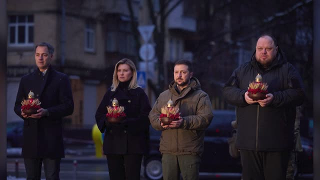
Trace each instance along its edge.
<instances>
[{"instance_id":1,"label":"black trousers of the large bearded man at far right","mask_svg":"<svg viewBox=\"0 0 320 180\"><path fill-rule=\"evenodd\" d=\"M240 150L243 180L285 180L290 151Z\"/></svg>"}]
</instances>

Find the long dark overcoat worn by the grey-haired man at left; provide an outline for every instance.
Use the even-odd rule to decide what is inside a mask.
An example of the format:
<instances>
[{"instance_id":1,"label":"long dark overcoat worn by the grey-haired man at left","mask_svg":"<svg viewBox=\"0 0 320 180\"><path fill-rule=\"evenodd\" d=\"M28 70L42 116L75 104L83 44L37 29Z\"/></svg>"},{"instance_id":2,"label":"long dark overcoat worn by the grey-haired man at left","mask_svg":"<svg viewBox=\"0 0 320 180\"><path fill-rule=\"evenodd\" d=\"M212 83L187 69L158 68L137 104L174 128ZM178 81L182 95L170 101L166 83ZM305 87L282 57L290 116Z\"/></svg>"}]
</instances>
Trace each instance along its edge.
<instances>
[{"instance_id":1,"label":"long dark overcoat worn by the grey-haired man at left","mask_svg":"<svg viewBox=\"0 0 320 180\"><path fill-rule=\"evenodd\" d=\"M21 100L32 90L47 109L49 116L39 119L21 116ZM49 65L43 76L37 68L22 76L14 104L14 112L24 120L22 156L27 158L64 157L62 117L73 112L69 78Z\"/></svg>"}]
</instances>

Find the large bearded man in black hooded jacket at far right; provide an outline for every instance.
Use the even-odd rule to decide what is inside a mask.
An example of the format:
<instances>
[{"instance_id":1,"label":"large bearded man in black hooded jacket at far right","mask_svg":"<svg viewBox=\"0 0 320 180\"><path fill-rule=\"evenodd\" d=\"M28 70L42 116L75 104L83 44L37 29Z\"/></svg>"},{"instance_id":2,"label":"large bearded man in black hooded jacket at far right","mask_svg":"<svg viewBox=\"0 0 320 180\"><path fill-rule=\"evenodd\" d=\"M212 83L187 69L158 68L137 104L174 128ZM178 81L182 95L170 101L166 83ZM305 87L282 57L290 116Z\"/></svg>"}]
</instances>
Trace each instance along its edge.
<instances>
[{"instance_id":1,"label":"large bearded man in black hooded jacket at far right","mask_svg":"<svg viewBox=\"0 0 320 180\"><path fill-rule=\"evenodd\" d=\"M257 74L268 84L265 99L248 96L248 83ZM275 38L261 35L251 60L236 68L222 88L225 100L236 106L237 139L242 178L285 179L293 148L295 107L302 104L302 80L287 62Z\"/></svg>"}]
</instances>

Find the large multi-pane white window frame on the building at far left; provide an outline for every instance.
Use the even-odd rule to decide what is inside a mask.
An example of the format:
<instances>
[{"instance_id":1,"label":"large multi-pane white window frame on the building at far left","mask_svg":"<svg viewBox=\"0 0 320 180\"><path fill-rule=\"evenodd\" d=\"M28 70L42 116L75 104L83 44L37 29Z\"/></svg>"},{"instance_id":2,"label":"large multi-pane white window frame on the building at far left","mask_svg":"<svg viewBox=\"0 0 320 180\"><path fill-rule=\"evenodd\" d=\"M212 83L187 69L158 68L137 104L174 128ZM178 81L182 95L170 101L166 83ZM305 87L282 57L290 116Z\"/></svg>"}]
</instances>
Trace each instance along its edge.
<instances>
[{"instance_id":1,"label":"large multi-pane white window frame on the building at far left","mask_svg":"<svg viewBox=\"0 0 320 180\"><path fill-rule=\"evenodd\" d=\"M34 19L32 22L28 22L27 21L27 16L25 22L18 22L18 16L20 15L12 15L15 16L15 22L8 22L8 46L33 46L34 42L29 42L29 27L33 27L33 33L34 33ZM19 43L18 42L18 26L24 26L24 42L23 43ZM14 27L14 42L10 42L10 28ZM34 34L33 34L33 38L34 38ZM33 39L34 40L34 39Z\"/></svg>"}]
</instances>

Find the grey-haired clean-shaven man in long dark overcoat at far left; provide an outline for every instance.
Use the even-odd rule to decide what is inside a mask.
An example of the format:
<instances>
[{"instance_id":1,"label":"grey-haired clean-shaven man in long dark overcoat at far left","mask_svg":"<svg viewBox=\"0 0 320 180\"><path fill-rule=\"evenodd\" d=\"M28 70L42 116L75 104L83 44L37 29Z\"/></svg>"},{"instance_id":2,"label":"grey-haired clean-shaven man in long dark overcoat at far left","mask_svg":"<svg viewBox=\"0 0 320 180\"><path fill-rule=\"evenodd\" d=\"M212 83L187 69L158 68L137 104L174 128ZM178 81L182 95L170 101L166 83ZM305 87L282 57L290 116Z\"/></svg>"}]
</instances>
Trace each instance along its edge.
<instances>
[{"instance_id":1,"label":"grey-haired clean-shaven man in long dark overcoat at far left","mask_svg":"<svg viewBox=\"0 0 320 180\"><path fill-rule=\"evenodd\" d=\"M26 179L40 179L43 162L46 179L59 179L60 160L64 157L62 117L73 112L69 78L52 68L52 45L35 46L35 71L21 77L14 104L15 113L24 121L22 157ZM22 112L21 101L32 90L41 102L35 114Z\"/></svg>"}]
</instances>

